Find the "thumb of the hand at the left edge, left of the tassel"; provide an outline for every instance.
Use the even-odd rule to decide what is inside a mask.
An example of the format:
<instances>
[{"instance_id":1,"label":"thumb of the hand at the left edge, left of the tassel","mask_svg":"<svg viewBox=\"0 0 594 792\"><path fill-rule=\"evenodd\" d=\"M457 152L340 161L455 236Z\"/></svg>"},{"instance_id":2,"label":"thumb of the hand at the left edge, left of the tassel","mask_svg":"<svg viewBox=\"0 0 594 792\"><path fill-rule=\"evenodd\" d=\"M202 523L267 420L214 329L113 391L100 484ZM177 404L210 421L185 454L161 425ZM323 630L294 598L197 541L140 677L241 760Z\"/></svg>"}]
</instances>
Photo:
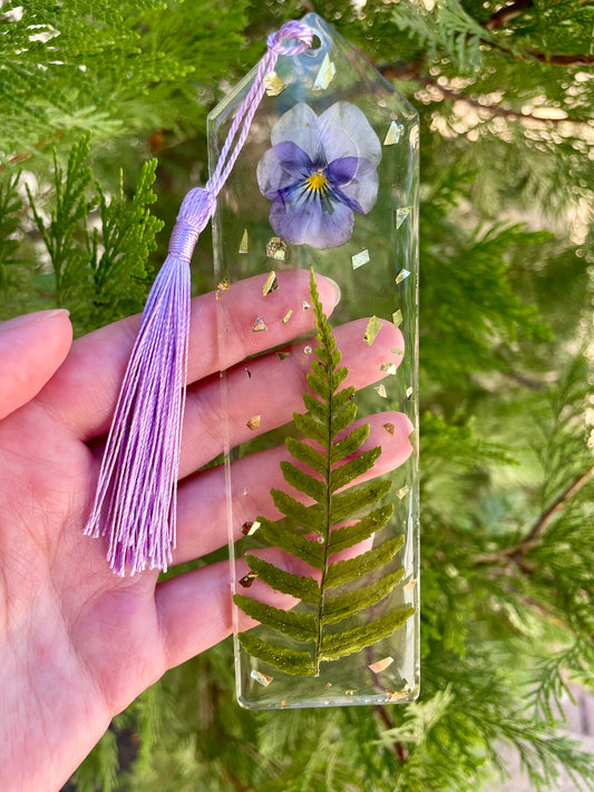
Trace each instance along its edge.
<instances>
[{"instance_id":1,"label":"thumb of the hand at the left edge, left of the tassel","mask_svg":"<svg viewBox=\"0 0 594 792\"><path fill-rule=\"evenodd\" d=\"M68 311L39 311L0 322L0 418L39 393L71 343Z\"/></svg>"}]
</instances>

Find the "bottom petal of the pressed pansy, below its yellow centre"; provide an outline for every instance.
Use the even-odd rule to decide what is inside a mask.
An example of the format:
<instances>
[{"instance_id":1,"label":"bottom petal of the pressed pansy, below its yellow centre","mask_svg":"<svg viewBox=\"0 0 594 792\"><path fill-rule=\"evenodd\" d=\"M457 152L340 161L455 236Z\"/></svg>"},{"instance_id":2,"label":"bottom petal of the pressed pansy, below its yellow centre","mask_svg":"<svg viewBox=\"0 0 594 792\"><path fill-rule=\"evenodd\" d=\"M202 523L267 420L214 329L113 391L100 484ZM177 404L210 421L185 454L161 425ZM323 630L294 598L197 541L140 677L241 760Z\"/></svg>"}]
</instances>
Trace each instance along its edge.
<instances>
[{"instance_id":1,"label":"bottom petal of the pressed pansy, below its yellow centre","mask_svg":"<svg viewBox=\"0 0 594 792\"><path fill-rule=\"evenodd\" d=\"M289 244L327 250L351 238L354 215L344 204L334 204L330 214L323 212L317 201L302 201L299 206L275 201L270 211L270 224Z\"/></svg>"}]
</instances>

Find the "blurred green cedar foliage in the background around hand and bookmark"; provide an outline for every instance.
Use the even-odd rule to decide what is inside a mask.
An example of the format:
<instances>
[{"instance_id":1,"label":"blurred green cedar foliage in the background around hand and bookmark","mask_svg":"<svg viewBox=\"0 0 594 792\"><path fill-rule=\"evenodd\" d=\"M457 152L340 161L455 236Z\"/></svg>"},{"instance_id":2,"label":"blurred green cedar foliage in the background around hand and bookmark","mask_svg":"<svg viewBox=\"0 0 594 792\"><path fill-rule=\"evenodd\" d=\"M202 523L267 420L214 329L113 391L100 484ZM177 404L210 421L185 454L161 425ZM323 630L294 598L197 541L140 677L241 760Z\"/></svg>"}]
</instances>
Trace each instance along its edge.
<instances>
[{"instance_id":1,"label":"blurred green cedar foliage in the background around hand and bookmark","mask_svg":"<svg viewBox=\"0 0 594 792\"><path fill-rule=\"evenodd\" d=\"M558 731L566 687L594 678L594 7L311 8L421 114L421 697L250 713L226 642L116 717L69 788L467 792L500 788L505 746L534 789L562 765L594 789L591 757ZM137 310L166 247L155 218L171 231L205 180L206 111L303 11L3 3L2 319L65 304L82 332ZM203 235L199 291L210 260Z\"/></svg>"}]
</instances>

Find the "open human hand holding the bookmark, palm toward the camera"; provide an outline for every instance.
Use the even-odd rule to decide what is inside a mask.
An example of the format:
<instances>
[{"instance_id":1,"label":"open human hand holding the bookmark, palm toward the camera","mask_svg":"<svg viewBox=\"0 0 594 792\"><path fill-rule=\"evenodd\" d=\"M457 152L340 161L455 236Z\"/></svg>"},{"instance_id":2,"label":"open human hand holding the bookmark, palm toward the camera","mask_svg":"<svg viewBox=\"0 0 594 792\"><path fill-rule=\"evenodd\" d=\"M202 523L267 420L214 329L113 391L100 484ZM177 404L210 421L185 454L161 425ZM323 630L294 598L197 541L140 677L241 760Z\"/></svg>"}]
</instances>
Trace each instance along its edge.
<instances>
[{"instance_id":1,"label":"open human hand holding the bookmark, palm toward the camera","mask_svg":"<svg viewBox=\"0 0 594 792\"><path fill-rule=\"evenodd\" d=\"M299 305L308 299L306 272L279 280L281 294ZM332 282L318 283L331 313L339 295ZM193 472L223 449L220 368L230 370L234 444L253 437L246 427L253 414L262 413L259 431L267 431L302 409L306 342L282 361L274 352L251 360L251 377L242 363L313 329L311 311L295 311L283 325L286 305L275 294L262 297L261 278L251 278L222 295L228 336L221 361L214 295L193 301L175 564L227 541L224 471ZM264 311L269 330L253 333ZM0 324L0 775L7 792L59 789L115 714L167 668L231 632L226 563L162 583L157 571L119 578L107 567L104 541L82 535L138 322L123 320L74 344L66 312ZM356 387L379 379L380 364L395 358L390 349L402 344L389 324L371 348L362 330L364 320L335 331ZM410 452L411 427L400 413L372 417L369 444L386 420L396 432L382 434L378 472ZM275 517L270 489L282 481L284 453L272 449L255 462L234 463L237 535L256 514Z\"/></svg>"}]
</instances>

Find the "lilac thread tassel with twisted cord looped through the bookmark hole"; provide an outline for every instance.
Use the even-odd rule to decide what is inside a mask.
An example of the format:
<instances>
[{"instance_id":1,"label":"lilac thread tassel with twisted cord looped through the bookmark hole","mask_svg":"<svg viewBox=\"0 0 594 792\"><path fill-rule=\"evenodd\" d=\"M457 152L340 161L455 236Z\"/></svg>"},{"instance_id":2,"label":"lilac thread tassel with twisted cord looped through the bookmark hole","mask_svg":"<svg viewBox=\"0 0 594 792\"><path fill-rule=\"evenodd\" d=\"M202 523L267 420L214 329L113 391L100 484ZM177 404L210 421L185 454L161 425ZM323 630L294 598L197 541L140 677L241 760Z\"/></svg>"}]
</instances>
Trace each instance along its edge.
<instances>
[{"instance_id":1,"label":"lilac thread tassel with twisted cord looped through the bookmark hole","mask_svg":"<svg viewBox=\"0 0 594 792\"><path fill-rule=\"evenodd\" d=\"M296 39L298 43L283 45L283 39ZM213 177L204 188L189 190L182 202L169 254L148 295L124 375L85 528L87 536L107 537L107 560L117 575L146 568L165 571L172 563L187 379L188 264L247 138L264 95L264 77L279 55L299 55L312 40L313 30L298 21L286 22L269 37L269 50L231 125Z\"/></svg>"}]
</instances>

